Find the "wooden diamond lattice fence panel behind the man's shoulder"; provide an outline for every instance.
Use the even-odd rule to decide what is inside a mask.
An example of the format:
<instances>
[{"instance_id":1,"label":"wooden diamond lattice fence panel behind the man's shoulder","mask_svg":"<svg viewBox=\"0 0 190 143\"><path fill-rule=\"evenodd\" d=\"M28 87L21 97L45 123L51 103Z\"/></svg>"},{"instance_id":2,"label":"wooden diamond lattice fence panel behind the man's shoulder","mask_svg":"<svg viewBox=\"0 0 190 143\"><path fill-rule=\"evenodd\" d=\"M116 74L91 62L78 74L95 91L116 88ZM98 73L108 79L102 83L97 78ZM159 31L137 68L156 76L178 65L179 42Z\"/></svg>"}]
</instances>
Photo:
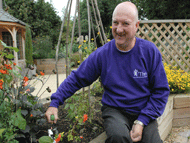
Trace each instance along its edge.
<instances>
[{"instance_id":1,"label":"wooden diamond lattice fence panel behind the man's shoulder","mask_svg":"<svg viewBox=\"0 0 190 143\"><path fill-rule=\"evenodd\" d=\"M152 41L163 62L190 72L190 20L142 20L136 36Z\"/></svg>"}]
</instances>

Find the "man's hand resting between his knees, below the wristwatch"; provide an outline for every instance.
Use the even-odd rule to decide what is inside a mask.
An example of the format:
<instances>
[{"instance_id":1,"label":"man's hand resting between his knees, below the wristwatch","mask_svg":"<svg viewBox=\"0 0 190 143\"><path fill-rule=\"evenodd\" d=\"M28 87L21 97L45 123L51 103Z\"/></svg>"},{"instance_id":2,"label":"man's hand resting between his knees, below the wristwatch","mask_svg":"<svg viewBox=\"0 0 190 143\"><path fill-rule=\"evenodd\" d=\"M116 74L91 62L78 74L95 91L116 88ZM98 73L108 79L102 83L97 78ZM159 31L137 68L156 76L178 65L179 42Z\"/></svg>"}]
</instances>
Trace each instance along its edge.
<instances>
[{"instance_id":1,"label":"man's hand resting between his knees, below the wristwatch","mask_svg":"<svg viewBox=\"0 0 190 143\"><path fill-rule=\"evenodd\" d=\"M143 126L140 124L135 124L130 131L130 136L133 142L141 141L142 139Z\"/></svg>"}]
</instances>

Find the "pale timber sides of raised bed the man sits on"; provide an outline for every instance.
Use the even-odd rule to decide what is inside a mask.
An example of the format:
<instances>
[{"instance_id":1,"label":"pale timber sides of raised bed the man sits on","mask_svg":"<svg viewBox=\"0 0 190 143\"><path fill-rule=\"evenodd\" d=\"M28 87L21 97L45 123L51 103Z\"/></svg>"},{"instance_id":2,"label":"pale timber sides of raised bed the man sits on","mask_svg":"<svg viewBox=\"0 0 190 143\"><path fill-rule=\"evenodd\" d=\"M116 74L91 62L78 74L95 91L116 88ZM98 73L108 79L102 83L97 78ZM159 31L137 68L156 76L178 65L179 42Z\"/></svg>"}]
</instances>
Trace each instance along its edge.
<instances>
[{"instance_id":1,"label":"pale timber sides of raised bed the man sits on","mask_svg":"<svg viewBox=\"0 0 190 143\"><path fill-rule=\"evenodd\" d=\"M165 140L172 127L185 126L190 124L190 95L170 95L166 108L161 117L157 119L158 130L162 140ZM90 143L104 143L106 132L100 134Z\"/></svg>"}]
</instances>

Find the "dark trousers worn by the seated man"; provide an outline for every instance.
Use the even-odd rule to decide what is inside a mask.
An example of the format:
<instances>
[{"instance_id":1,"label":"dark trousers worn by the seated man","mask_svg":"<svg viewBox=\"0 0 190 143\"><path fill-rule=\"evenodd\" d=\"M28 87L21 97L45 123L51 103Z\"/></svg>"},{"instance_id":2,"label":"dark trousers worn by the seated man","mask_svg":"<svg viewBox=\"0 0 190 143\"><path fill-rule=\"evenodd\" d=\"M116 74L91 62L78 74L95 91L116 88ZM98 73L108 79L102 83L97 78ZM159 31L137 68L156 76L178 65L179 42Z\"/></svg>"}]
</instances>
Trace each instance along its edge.
<instances>
[{"instance_id":1,"label":"dark trousers worn by the seated man","mask_svg":"<svg viewBox=\"0 0 190 143\"><path fill-rule=\"evenodd\" d=\"M108 106L102 106L101 110L107 134L105 143L133 143L129 133L138 115ZM138 143L163 143L156 120L152 120L147 126L144 126L142 140Z\"/></svg>"}]
</instances>

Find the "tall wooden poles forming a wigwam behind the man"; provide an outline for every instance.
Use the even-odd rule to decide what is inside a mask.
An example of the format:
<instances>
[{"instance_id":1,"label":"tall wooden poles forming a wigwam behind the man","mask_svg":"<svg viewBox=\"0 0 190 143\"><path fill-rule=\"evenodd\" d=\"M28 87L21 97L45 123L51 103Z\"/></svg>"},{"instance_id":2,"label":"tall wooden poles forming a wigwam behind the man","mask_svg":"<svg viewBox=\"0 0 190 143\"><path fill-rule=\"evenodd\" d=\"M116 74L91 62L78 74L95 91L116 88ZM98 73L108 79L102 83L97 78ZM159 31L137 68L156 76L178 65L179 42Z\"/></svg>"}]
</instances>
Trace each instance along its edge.
<instances>
[{"instance_id":1,"label":"tall wooden poles forming a wigwam behind the man","mask_svg":"<svg viewBox=\"0 0 190 143\"><path fill-rule=\"evenodd\" d=\"M56 64L55 64L55 68L57 71L57 88L59 86L58 83L58 70L57 70L57 62L58 62L58 53L59 53L59 46L60 46L60 42L61 42L61 37L62 37L62 33L63 33L63 26L65 24L65 20L67 19L67 34L66 34L66 57L65 57L65 63L66 63L66 77L68 76L69 72L70 72L70 67L69 67L69 60L68 60L68 54L71 53L71 49L72 49L72 45L73 45L73 39L74 39L74 29L75 29L75 24L76 24L76 15L78 14L78 29L79 29L79 44L82 43L82 39L81 38L81 27L80 27L80 2L79 0L76 0L76 8L75 8L75 15L74 15L74 24L73 24L73 28L72 28L72 38L71 38L71 46L70 49L68 50L68 35L69 35L69 21L70 21L70 12L71 12L71 5L72 5L73 0L68 0L67 2L67 6L65 9L65 13L64 13L64 18L62 21L62 25L61 25L61 30L60 30L60 34L59 34L59 39L58 39L58 44L56 46ZM91 30L92 30L92 35L94 38L94 42L95 45L96 44L96 35L95 35L95 30L93 27L91 27L91 25L93 25L92 22L92 16L90 13L90 5L89 5L89 0L86 0L87 3L87 13L88 13L88 44L90 44L90 40L91 40ZM100 40L102 45L104 45L107 42L107 38L106 35L104 33L104 28L103 28L103 24L101 21L101 17L100 17L100 12L98 9L98 4L97 4L97 0L91 0L91 4L92 4L92 8L93 8L93 14L94 14L94 19L96 21L96 28L98 30L99 36L100 36ZM90 46L90 45L88 45ZM69 53L68 53L69 52ZM79 52L80 54L80 52ZM82 61L81 59L81 54L80 54L80 61Z\"/></svg>"}]
</instances>

